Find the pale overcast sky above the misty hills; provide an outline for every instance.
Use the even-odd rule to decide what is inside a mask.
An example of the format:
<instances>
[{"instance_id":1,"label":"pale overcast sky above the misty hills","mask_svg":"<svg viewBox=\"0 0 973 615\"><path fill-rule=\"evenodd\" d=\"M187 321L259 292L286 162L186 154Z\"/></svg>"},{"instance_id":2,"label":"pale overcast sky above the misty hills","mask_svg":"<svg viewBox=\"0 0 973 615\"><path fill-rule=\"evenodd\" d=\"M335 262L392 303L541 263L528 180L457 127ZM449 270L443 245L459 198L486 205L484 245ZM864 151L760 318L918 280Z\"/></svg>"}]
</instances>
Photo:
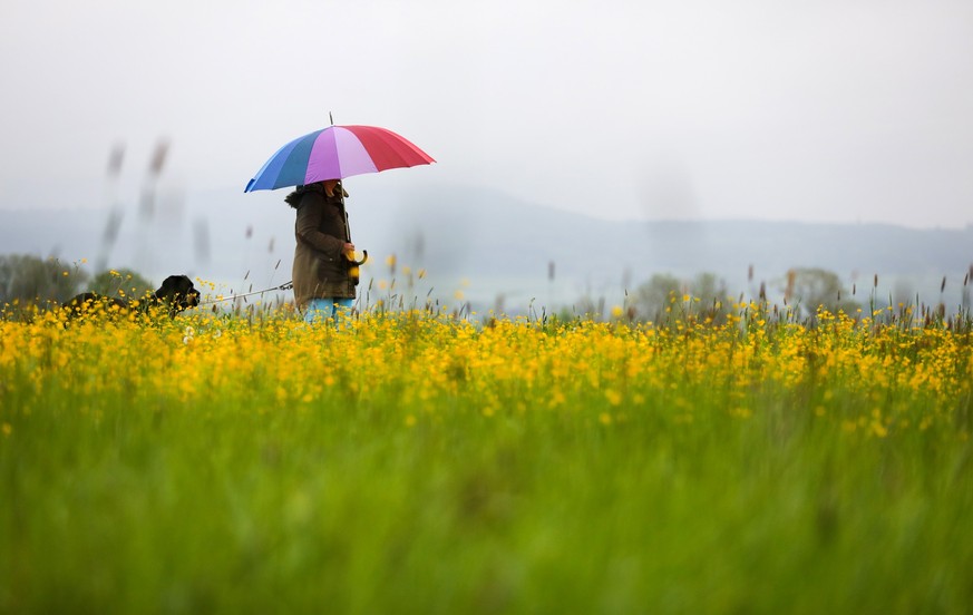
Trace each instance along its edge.
<instances>
[{"instance_id":1,"label":"pale overcast sky above the misty hills","mask_svg":"<svg viewBox=\"0 0 973 615\"><path fill-rule=\"evenodd\" d=\"M137 183L159 139L164 182L250 198L332 111L438 160L387 187L973 222L970 0L3 0L0 84L0 211L103 206L113 147Z\"/></svg>"}]
</instances>

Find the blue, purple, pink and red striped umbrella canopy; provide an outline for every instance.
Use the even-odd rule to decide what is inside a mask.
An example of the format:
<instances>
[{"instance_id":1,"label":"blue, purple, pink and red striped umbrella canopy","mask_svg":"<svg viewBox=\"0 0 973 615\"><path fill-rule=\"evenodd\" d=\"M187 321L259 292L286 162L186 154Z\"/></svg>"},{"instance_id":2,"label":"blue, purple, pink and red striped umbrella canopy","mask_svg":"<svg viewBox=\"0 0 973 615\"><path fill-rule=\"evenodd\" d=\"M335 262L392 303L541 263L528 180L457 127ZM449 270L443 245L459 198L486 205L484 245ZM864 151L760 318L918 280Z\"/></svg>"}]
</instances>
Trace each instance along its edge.
<instances>
[{"instance_id":1,"label":"blue, purple, pink and red striped umbrella canopy","mask_svg":"<svg viewBox=\"0 0 973 615\"><path fill-rule=\"evenodd\" d=\"M391 130L376 126L329 126L281 147L243 192L301 186L435 162Z\"/></svg>"}]
</instances>

